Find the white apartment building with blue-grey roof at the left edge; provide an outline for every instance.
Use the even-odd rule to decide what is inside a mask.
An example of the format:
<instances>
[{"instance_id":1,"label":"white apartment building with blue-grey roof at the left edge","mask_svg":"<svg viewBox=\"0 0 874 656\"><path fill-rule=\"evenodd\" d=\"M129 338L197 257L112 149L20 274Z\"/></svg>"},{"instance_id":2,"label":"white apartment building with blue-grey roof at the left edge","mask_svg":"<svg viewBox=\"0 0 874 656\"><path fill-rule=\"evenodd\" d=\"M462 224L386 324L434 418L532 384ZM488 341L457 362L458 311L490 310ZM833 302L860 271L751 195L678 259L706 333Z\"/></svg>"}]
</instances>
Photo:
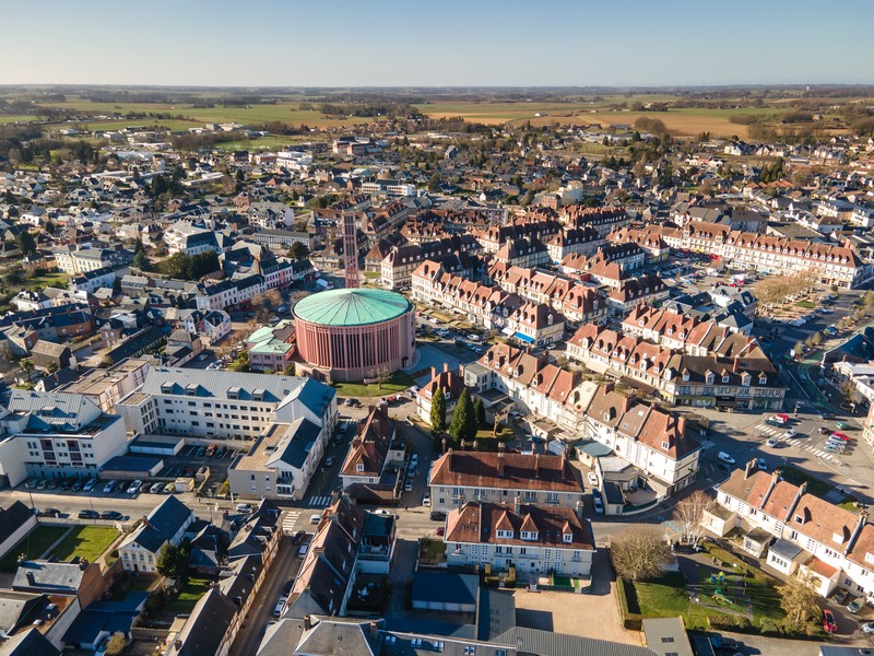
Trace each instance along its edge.
<instances>
[{"instance_id":1,"label":"white apartment building with blue-grey roof at the left edge","mask_svg":"<svg viewBox=\"0 0 874 656\"><path fill-rule=\"evenodd\" d=\"M125 422L79 394L13 389L0 414L0 481L96 477L127 450Z\"/></svg>"}]
</instances>

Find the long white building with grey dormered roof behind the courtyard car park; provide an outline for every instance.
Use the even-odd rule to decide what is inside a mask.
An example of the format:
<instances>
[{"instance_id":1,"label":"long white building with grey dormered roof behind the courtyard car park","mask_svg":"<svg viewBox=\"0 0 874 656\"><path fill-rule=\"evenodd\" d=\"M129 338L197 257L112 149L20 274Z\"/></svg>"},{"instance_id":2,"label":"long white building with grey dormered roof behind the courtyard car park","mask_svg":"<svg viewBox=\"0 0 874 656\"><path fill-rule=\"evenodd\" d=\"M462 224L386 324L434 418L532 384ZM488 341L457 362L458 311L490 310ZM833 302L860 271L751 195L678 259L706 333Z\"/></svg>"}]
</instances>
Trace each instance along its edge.
<instances>
[{"instance_id":1,"label":"long white building with grey dormered roof behind the courtyard car park","mask_svg":"<svg viewBox=\"0 0 874 656\"><path fill-rule=\"evenodd\" d=\"M116 403L129 432L255 440L308 378L151 367L142 386Z\"/></svg>"}]
</instances>

